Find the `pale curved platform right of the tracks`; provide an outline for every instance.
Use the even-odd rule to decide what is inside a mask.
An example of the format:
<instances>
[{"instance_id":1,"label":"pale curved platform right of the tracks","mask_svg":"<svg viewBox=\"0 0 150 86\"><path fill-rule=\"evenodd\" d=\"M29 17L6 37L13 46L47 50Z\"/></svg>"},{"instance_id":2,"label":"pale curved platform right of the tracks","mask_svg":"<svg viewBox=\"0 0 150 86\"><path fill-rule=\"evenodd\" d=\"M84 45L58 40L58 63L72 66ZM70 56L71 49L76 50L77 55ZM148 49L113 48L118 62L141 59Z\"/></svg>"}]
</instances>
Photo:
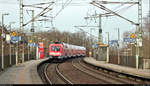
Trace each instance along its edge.
<instances>
[{"instance_id":1,"label":"pale curved platform right of the tracks","mask_svg":"<svg viewBox=\"0 0 150 86\"><path fill-rule=\"evenodd\" d=\"M102 67L115 72L150 79L150 69L136 69L136 68L126 67L126 66L121 66L116 64L110 64L104 61L96 61L92 57L85 57L83 60L86 63L89 63L97 67Z\"/></svg>"}]
</instances>

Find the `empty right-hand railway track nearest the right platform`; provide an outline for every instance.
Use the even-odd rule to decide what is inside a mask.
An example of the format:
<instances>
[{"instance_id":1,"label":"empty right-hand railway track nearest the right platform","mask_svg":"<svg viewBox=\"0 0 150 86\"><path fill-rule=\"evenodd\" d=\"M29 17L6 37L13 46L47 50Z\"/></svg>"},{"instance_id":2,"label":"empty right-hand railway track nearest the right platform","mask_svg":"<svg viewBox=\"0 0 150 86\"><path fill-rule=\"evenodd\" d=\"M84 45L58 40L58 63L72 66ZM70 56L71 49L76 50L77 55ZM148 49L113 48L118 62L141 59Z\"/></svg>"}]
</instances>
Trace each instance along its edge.
<instances>
[{"instance_id":1,"label":"empty right-hand railway track nearest the right platform","mask_svg":"<svg viewBox=\"0 0 150 86\"><path fill-rule=\"evenodd\" d=\"M136 81L125 79L125 78L119 78L111 74L108 74L108 72L104 73L101 71L94 70L82 64L80 60L76 60L76 63L72 61L72 65L78 70L82 71L83 73L86 73L89 76L92 76L93 78L96 78L107 84L139 84L139 83L141 84L142 83L142 82L136 82Z\"/></svg>"}]
</instances>

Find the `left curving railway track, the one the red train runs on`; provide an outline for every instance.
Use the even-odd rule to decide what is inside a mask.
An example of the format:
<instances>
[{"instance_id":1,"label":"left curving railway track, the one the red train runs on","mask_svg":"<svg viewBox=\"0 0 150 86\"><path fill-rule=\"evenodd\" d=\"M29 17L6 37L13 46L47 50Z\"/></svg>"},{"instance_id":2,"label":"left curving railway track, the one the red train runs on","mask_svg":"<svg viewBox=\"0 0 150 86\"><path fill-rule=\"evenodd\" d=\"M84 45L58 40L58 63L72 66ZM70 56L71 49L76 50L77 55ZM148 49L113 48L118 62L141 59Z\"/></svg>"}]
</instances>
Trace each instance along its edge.
<instances>
[{"instance_id":1,"label":"left curving railway track, the one the red train runs on","mask_svg":"<svg viewBox=\"0 0 150 86\"><path fill-rule=\"evenodd\" d=\"M45 61L38 66L38 73L44 84L60 84L61 82L64 82L63 84L73 84L60 72L59 65L60 63L55 64L53 61ZM48 70L55 72L49 74ZM54 77L52 75L54 75ZM58 81L60 83L58 83Z\"/></svg>"}]
</instances>

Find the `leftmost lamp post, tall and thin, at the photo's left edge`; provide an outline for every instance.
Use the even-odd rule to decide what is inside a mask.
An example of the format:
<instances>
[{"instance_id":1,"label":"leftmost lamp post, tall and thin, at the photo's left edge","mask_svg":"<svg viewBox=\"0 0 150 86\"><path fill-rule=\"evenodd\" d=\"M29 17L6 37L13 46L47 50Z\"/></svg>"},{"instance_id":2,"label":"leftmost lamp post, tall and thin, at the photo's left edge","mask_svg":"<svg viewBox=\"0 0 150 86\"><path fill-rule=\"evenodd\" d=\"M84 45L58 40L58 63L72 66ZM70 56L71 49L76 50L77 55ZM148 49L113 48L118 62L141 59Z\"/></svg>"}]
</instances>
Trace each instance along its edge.
<instances>
[{"instance_id":1,"label":"leftmost lamp post, tall and thin, at the photo's left edge","mask_svg":"<svg viewBox=\"0 0 150 86\"><path fill-rule=\"evenodd\" d=\"M4 42L3 42L3 29L4 29L4 16L9 15L8 13L2 14L2 70L4 69Z\"/></svg>"}]
</instances>

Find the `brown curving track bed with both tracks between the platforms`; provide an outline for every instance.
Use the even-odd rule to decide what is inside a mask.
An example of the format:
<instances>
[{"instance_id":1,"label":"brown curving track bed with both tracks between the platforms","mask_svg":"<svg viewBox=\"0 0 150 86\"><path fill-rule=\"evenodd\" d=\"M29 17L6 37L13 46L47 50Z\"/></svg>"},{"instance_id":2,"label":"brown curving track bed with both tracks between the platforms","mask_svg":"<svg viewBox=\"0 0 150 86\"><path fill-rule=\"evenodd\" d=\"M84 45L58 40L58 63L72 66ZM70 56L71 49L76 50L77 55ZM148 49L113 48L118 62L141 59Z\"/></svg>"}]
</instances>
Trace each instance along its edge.
<instances>
[{"instance_id":1,"label":"brown curving track bed with both tracks between the platforms","mask_svg":"<svg viewBox=\"0 0 150 86\"><path fill-rule=\"evenodd\" d=\"M117 73L96 70L81 59L71 59L63 63L45 62L39 69L46 84L145 84L143 81L118 77L121 75Z\"/></svg>"}]
</instances>

